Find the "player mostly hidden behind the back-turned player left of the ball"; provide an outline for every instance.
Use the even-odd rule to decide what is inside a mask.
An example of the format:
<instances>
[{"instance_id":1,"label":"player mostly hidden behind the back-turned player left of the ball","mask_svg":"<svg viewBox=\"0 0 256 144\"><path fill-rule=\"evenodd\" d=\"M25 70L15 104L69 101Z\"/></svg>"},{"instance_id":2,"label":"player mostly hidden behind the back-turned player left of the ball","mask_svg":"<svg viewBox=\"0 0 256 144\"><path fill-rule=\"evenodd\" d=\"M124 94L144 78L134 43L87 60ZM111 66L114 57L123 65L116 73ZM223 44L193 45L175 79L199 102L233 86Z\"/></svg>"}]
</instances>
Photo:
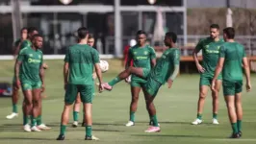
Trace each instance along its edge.
<instances>
[{"instance_id":1,"label":"player mostly hidden behind the back-turned player left of the ball","mask_svg":"<svg viewBox=\"0 0 256 144\"><path fill-rule=\"evenodd\" d=\"M95 41L94 37L89 35L87 43L90 47L92 47L94 45L94 41ZM92 74L92 78L93 78L93 80L96 79L96 73L95 72ZM73 125L72 125L73 127L78 126L78 119L79 119L78 117L79 117L80 105L81 105L81 98L80 98L80 93L78 93L77 97L76 97L75 104L74 104L74 108L73 108L73 120L74 120ZM85 120L83 119L82 127L84 127L84 126L85 126Z\"/></svg>"}]
</instances>

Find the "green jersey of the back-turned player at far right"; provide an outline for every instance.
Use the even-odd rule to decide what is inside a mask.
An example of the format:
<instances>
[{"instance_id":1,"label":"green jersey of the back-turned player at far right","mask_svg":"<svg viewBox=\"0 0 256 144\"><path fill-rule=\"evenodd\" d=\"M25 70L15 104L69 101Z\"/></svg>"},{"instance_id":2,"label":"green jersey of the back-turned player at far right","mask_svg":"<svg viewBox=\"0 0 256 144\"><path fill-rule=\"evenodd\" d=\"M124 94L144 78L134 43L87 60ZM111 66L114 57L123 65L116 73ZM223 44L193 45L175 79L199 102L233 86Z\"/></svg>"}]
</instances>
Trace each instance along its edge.
<instances>
[{"instance_id":1,"label":"green jersey of the back-turned player at far right","mask_svg":"<svg viewBox=\"0 0 256 144\"><path fill-rule=\"evenodd\" d=\"M220 58L224 58L222 77L224 81L243 80L243 58L246 57L243 45L238 42L225 42L220 47Z\"/></svg>"}]
</instances>

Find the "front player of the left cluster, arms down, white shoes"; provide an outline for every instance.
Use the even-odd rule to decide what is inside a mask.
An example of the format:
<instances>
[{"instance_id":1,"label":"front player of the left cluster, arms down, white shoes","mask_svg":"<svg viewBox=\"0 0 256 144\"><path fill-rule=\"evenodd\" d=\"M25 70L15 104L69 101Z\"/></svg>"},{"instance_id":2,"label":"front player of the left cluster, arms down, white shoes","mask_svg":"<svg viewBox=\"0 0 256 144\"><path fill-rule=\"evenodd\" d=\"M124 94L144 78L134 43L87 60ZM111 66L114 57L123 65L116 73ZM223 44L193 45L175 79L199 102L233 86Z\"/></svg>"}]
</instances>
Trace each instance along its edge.
<instances>
[{"instance_id":1,"label":"front player of the left cluster, arms down, white shoes","mask_svg":"<svg viewBox=\"0 0 256 144\"><path fill-rule=\"evenodd\" d=\"M39 99L41 90L44 89L44 68L42 52L42 36L34 35L32 45L20 50L15 62L15 86L22 87L24 95L24 130L26 132L40 132L37 127L39 114ZM32 126L29 119L32 114Z\"/></svg>"}]
</instances>

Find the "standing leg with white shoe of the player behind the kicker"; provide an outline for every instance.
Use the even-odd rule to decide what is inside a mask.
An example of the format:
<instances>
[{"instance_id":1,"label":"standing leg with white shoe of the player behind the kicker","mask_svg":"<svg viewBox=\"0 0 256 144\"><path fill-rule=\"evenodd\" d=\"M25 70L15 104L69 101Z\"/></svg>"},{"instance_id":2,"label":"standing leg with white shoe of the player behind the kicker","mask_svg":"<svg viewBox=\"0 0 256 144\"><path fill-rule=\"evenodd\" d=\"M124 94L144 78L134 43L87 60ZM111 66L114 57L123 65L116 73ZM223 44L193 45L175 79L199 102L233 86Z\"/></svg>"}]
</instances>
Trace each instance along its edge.
<instances>
[{"instance_id":1,"label":"standing leg with white shoe of the player behind the kicker","mask_svg":"<svg viewBox=\"0 0 256 144\"><path fill-rule=\"evenodd\" d=\"M141 91L141 85L131 84L132 101L130 104L130 119L126 124L126 127L131 127L131 126L134 126L135 124L135 112L138 107L140 91Z\"/></svg>"}]
</instances>

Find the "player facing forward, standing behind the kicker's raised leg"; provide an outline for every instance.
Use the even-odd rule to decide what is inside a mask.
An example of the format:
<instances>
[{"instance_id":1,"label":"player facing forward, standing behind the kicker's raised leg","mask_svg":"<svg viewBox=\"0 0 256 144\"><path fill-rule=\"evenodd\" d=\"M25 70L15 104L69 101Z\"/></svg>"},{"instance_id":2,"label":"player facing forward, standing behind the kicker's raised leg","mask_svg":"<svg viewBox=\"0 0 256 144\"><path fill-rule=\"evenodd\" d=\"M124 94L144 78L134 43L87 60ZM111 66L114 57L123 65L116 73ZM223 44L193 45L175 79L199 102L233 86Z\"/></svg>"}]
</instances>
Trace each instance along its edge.
<instances>
[{"instance_id":1,"label":"player facing forward, standing behind the kicker's raised leg","mask_svg":"<svg viewBox=\"0 0 256 144\"><path fill-rule=\"evenodd\" d=\"M137 75L132 75L131 78L131 94L132 101L130 104L130 119L126 124L126 127L135 125L135 112L138 108L139 95L142 85L146 82L146 77L150 72L151 65L156 65L156 54L152 47L145 44L146 34L143 31L137 32L137 45L131 47L128 51L128 58L126 62L126 68L130 66L131 60L134 68L138 71L142 71L142 78ZM115 83L115 80L114 80ZM112 84L112 83L110 83ZM150 117L150 115L149 115Z\"/></svg>"}]
</instances>

